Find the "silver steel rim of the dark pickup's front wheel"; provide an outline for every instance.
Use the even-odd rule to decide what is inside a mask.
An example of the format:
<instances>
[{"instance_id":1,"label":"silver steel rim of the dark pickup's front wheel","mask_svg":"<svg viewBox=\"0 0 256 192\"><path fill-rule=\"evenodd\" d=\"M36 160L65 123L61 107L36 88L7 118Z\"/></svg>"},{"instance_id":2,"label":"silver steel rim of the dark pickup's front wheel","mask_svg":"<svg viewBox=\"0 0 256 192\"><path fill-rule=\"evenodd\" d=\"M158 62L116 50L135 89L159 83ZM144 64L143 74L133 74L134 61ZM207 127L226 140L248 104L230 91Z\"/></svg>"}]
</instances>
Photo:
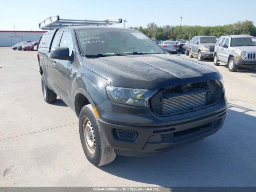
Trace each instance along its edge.
<instances>
[{"instance_id":1,"label":"silver steel rim of the dark pickup's front wheel","mask_svg":"<svg viewBox=\"0 0 256 192\"><path fill-rule=\"evenodd\" d=\"M90 152L90 154L94 154L95 148L96 148L96 142L95 142L92 123L88 118L84 118L83 131L84 131L84 140L86 143L86 148Z\"/></svg>"}]
</instances>

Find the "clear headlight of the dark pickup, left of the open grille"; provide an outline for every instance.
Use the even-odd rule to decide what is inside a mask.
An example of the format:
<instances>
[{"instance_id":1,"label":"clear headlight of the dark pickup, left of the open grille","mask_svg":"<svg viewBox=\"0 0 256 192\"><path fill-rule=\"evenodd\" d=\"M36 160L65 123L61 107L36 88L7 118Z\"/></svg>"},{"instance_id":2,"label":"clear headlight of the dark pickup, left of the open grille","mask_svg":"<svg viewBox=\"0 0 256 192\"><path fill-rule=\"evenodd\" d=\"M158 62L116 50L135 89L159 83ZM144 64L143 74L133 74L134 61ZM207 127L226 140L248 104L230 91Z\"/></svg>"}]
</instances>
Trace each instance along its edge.
<instances>
[{"instance_id":1,"label":"clear headlight of the dark pickup, left of the open grille","mask_svg":"<svg viewBox=\"0 0 256 192\"><path fill-rule=\"evenodd\" d=\"M106 86L108 98L114 102L133 105L149 106L148 99L155 93L146 89L130 89L114 86Z\"/></svg>"}]
</instances>

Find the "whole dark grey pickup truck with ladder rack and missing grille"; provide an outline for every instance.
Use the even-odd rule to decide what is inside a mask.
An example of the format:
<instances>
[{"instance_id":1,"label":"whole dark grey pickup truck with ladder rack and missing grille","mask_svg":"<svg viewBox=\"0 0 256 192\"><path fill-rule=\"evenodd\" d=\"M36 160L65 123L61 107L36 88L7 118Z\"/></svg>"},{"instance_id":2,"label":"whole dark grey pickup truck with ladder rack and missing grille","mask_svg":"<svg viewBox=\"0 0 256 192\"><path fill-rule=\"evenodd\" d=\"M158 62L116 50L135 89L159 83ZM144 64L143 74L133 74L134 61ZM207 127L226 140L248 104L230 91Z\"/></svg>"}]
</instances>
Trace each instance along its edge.
<instances>
[{"instance_id":1,"label":"whole dark grey pickup truck with ladder rack and missing grille","mask_svg":"<svg viewBox=\"0 0 256 192\"><path fill-rule=\"evenodd\" d=\"M227 101L216 68L172 56L137 30L101 26L114 21L75 21L39 24L51 29L39 68L44 100L58 95L76 112L92 164L165 152L222 127Z\"/></svg>"}]
</instances>

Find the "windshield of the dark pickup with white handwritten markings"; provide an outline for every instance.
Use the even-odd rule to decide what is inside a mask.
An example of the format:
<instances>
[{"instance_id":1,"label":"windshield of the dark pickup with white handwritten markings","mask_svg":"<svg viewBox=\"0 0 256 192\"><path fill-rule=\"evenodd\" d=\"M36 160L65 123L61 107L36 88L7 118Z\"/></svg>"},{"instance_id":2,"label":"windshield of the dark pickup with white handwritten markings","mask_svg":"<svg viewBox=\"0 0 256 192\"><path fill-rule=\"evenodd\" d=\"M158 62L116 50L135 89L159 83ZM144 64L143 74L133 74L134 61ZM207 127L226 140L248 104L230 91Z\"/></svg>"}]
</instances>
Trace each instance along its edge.
<instances>
[{"instance_id":1,"label":"windshield of the dark pickup with white handwritten markings","mask_svg":"<svg viewBox=\"0 0 256 192\"><path fill-rule=\"evenodd\" d=\"M83 56L162 54L164 50L141 32L116 28L77 29Z\"/></svg>"}]
</instances>

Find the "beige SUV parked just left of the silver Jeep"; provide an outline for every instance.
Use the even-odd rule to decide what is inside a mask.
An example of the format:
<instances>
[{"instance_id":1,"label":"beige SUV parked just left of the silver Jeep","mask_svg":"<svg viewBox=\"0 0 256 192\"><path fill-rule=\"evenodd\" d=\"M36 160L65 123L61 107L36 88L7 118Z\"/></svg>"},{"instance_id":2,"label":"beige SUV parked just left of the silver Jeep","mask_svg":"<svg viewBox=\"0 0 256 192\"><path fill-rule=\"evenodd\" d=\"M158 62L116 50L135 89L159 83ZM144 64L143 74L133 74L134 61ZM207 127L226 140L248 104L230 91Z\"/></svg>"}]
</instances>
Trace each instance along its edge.
<instances>
[{"instance_id":1,"label":"beige SUV parked just left of the silver Jeep","mask_svg":"<svg viewBox=\"0 0 256 192\"><path fill-rule=\"evenodd\" d=\"M216 36L195 36L190 44L189 57L196 56L198 61L203 61L204 58L213 58L214 46L218 37Z\"/></svg>"}]
</instances>

